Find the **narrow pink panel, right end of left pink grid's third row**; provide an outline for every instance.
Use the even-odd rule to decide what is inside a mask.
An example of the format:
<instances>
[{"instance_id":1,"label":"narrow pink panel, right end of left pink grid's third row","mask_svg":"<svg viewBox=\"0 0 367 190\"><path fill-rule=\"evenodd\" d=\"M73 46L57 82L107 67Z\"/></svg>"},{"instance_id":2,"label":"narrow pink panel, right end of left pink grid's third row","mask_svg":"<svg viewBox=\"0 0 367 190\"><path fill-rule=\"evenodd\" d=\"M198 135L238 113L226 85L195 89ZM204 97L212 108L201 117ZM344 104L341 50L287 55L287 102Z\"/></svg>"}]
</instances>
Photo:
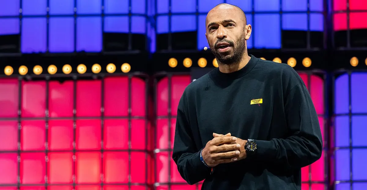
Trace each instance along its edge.
<instances>
[{"instance_id":1,"label":"narrow pink panel, right end of left pink grid's third row","mask_svg":"<svg viewBox=\"0 0 367 190\"><path fill-rule=\"evenodd\" d=\"M146 158L144 152L131 152L131 182L146 183Z\"/></svg>"}]
</instances>

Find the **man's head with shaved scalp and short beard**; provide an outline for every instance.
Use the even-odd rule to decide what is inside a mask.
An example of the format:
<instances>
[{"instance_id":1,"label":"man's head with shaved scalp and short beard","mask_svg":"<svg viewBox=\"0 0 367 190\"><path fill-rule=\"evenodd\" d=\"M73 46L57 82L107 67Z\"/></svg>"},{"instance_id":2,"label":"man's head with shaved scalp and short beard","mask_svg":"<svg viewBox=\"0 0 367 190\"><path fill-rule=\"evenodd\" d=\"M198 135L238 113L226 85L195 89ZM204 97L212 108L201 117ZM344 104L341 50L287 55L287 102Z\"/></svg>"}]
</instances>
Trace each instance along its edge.
<instances>
[{"instance_id":1,"label":"man's head with shaved scalp and short beard","mask_svg":"<svg viewBox=\"0 0 367 190\"><path fill-rule=\"evenodd\" d=\"M231 65L239 62L246 52L251 25L237 6L222 3L210 10L206 18L206 37L218 63Z\"/></svg>"}]
</instances>

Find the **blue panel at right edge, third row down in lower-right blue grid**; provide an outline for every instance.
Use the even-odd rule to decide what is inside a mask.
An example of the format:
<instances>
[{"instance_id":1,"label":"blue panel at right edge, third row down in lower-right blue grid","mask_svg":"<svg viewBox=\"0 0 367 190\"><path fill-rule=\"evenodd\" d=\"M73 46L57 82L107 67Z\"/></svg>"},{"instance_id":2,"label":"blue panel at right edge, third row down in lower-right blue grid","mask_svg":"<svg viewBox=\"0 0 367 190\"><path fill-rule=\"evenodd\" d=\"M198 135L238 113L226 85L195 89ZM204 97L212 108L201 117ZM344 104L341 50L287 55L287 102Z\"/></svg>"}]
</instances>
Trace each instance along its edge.
<instances>
[{"instance_id":1,"label":"blue panel at right edge, third row down in lower-right blue grid","mask_svg":"<svg viewBox=\"0 0 367 190\"><path fill-rule=\"evenodd\" d=\"M353 149L352 169L353 180L367 180L367 149Z\"/></svg>"}]
</instances>

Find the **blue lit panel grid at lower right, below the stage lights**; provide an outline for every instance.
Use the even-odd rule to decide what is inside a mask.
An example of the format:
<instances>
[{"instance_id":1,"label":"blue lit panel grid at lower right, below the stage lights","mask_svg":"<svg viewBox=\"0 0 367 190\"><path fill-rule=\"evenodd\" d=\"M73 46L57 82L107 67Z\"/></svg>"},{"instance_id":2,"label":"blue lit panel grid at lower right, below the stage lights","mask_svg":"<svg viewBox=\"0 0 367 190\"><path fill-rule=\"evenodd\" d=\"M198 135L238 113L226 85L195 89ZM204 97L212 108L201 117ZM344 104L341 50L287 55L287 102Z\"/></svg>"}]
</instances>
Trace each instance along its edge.
<instances>
[{"instance_id":1,"label":"blue lit panel grid at lower right, below the stage lights","mask_svg":"<svg viewBox=\"0 0 367 190\"><path fill-rule=\"evenodd\" d=\"M335 77L335 189L367 189L366 72Z\"/></svg>"}]
</instances>

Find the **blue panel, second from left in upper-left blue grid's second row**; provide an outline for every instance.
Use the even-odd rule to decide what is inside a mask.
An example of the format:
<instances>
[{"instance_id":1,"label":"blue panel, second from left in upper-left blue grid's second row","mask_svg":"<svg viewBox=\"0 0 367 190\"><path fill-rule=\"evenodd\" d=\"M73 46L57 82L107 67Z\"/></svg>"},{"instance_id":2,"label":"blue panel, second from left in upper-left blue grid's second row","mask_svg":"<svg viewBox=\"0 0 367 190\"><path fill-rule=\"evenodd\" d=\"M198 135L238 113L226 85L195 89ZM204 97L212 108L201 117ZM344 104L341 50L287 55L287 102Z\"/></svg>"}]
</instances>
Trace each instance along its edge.
<instances>
[{"instance_id":1,"label":"blue panel, second from left in upper-left blue grid's second row","mask_svg":"<svg viewBox=\"0 0 367 190\"><path fill-rule=\"evenodd\" d=\"M21 50L22 53L46 52L46 18L23 18Z\"/></svg>"}]
</instances>

